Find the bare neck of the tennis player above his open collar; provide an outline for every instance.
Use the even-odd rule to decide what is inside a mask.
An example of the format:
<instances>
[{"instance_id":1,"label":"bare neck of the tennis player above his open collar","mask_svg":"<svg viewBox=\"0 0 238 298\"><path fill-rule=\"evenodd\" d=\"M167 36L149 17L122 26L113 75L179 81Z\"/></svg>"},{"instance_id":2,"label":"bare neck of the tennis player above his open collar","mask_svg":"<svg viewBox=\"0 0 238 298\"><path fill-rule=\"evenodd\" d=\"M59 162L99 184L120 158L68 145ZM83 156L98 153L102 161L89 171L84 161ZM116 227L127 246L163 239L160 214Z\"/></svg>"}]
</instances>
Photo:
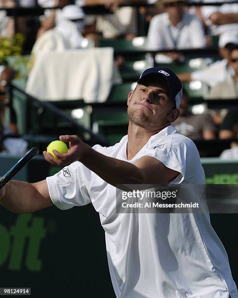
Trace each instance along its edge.
<instances>
[{"instance_id":1,"label":"bare neck of the tennis player above his open collar","mask_svg":"<svg viewBox=\"0 0 238 298\"><path fill-rule=\"evenodd\" d=\"M164 127L148 131L130 122L128 127L127 159L131 160L146 145L151 136L167 126L168 124Z\"/></svg>"}]
</instances>

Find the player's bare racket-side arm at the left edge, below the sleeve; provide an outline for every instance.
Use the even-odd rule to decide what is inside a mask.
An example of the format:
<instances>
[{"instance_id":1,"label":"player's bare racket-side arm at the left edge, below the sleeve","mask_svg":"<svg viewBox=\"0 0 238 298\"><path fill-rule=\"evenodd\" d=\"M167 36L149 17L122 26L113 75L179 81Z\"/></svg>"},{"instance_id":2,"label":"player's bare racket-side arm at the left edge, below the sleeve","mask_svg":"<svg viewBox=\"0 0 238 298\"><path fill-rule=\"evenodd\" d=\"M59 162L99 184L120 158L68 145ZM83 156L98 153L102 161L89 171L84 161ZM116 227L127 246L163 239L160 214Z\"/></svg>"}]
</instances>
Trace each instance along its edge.
<instances>
[{"instance_id":1,"label":"player's bare racket-side arm at the left edge, below the sleeve","mask_svg":"<svg viewBox=\"0 0 238 298\"><path fill-rule=\"evenodd\" d=\"M0 190L0 204L15 213L34 212L53 205L46 180L34 184L10 181Z\"/></svg>"}]
</instances>

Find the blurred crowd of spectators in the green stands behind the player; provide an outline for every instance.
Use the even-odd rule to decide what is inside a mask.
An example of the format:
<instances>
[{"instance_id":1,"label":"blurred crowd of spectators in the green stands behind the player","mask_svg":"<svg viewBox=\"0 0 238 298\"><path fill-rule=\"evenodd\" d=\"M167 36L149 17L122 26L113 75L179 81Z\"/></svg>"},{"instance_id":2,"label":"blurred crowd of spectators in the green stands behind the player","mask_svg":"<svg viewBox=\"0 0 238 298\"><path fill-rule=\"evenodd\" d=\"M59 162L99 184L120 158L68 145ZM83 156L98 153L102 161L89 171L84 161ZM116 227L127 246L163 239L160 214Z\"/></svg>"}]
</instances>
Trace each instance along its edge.
<instances>
[{"instance_id":1,"label":"blurred crowd of spectators in the green stands behind the player","mask_svg":"<svg viewBox=\"0 0 238 298\"><path fill-rule=\"evenodd\" d=\"M133 39L138 35L140 16L144 19L147 48L160 51L155 56L157 63L182 63L185 57L177 50L209 48L217 37L220 59L202 70L178 75L183 82L199 80L206 83L210 90L209 99L238 99L238 3L226 3L225 0L199 2L221 2L221 5L190 6L186 0L0 0L0 7L4 9L47 8L42 16L15 19L1 10L0 37L12 37L17 32L26 35L25 51L32 52L33 57L42 51L80 49L85 38L92 40L95 46L100 38ZM130 4L138 4L139 9ZM110 13L85 14L87 6L96 5L104 6ZM119 56L116 65L120 68L122 64L123 57ZM6 84L14 75L11 68L0 66L0 92L3 97ZM0 99L0 103L0 135L17 134L14 124L5 126L4 100ZM180 110L181 116L174 126L192 139L238 137L238 110L194 114L186 92ZM4 148L2 142L1 146ZM230 151L221 157L237 157L237 149L234 141Z\"/></svg>"}]
</instances>

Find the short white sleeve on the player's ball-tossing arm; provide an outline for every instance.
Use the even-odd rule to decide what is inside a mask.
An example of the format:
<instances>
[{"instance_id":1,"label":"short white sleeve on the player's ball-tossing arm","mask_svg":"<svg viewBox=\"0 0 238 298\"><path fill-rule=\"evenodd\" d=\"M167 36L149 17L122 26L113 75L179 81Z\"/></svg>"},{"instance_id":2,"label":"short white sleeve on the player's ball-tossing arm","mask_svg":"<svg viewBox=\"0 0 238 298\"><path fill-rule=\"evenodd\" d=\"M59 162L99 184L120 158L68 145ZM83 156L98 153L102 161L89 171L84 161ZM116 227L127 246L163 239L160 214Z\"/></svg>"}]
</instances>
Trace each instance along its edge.
<instances>
[{"instance_id":1,"label":"short white sleeve on the player's ball-tossing arm","mask_svg":"<svg viewBox=\"0 0 238 298\"><path fill-rule=\"evenodd\" d=\"M152 156L159 160L167 168L178 171L178 175L172 183L182 183L185 177L186 169L186 143L177 142L170 136L170 141L151 144L147 150L143 153L143 156Z\"/></svg>"}]
</instances>

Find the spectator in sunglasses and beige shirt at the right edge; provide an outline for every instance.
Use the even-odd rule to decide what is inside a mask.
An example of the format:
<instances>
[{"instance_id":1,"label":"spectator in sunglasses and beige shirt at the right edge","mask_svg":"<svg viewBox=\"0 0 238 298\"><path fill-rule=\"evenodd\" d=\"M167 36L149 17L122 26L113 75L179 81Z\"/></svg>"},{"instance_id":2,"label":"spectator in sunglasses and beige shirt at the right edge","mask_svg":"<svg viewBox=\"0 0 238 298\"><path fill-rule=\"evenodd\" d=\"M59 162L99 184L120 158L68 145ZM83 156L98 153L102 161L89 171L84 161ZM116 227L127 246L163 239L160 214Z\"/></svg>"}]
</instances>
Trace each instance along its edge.
<instances>
[{"instance_id":1,"label":"spectator in sunglasses and beige shirt at the right edge","mask_svg":"<svg viewBox=\"0 0 238 298\"><path fill-rule=\"evenodd\" d=\"M234 75L214 86L210 91L210 99L238 99L238 45L234 44L230 48L229 65L233 69Z\"/></svg>"}]
</instances>

